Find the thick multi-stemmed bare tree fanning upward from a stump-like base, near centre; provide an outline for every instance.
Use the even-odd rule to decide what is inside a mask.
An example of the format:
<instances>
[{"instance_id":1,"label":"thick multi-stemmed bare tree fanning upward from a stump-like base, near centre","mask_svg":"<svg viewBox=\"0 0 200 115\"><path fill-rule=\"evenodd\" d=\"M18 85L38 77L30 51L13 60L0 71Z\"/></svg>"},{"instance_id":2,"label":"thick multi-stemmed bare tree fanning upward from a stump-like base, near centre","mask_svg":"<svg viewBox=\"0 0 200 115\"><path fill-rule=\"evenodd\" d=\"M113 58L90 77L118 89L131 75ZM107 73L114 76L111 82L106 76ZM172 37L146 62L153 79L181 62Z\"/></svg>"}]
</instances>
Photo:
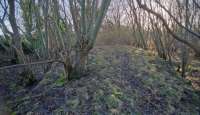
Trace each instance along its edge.
<instances>
[{"instance_id":1,"label":"thick multi-stemmed bare tree fanning upward from a stump-like base, near centre","mask_svg":"<svg viewBox=\"0 0 200 115\"><path fill-rule=\"evenodd\" d=\"M76 33L74 71L83 73L89 51L93 48L102 20L111 0L69 0L70 12Z\"/></svg>"}]
</instances>

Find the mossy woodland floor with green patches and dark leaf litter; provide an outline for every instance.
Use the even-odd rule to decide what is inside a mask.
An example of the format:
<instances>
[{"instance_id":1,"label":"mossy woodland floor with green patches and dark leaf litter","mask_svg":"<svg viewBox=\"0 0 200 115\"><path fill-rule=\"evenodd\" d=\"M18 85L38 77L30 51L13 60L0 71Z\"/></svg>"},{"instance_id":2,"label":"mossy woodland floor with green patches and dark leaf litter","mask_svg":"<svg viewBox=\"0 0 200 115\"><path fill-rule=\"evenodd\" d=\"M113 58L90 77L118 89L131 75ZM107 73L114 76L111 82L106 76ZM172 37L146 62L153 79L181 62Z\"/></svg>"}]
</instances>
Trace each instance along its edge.
<instances>
[{"instance_id":1,"label":"mossy woodland floor with green patches and dark leaf litter","mask_svg":"<svg viewBox=\"0 0 200 115\"><path fill-rule=\"evenodd\" d=\"M148 51L101 46L88 62L78 80L66 82L57 65L34 87L7 85L12 114L199 115L199 92Z\"/></svg>"}]
</instances>

